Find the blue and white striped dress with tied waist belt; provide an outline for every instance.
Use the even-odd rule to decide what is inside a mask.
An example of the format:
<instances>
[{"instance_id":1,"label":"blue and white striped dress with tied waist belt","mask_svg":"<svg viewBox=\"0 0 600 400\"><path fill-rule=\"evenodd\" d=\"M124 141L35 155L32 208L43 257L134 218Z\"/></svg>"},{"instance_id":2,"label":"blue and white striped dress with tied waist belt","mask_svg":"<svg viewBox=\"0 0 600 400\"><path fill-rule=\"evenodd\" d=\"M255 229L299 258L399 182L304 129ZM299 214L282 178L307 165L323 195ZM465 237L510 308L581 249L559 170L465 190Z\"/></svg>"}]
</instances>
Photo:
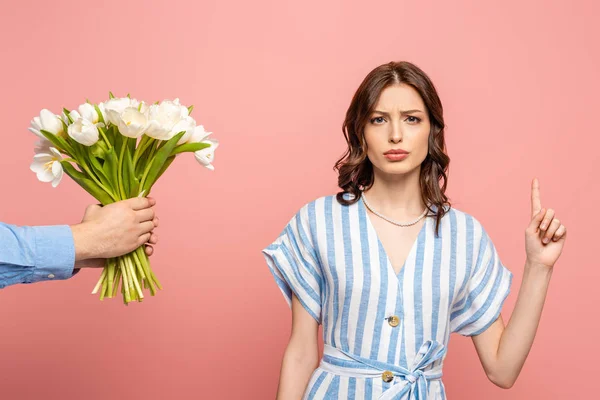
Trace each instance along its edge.
<instances>
[{"instance_id":1,"label":"blue and white striped dress with tied waist belt","mask_svg":"<svg viewBox=\"0 0 600 400\"><path fill-rule=\"evenodd\" d=\"M290 307L293 291L323 325L311 400L445 399L450 333L486 330L513 276L481 223L453 207L439 236L425 218L396 274L362 198L346 206L335 195L304 205L262 252Z\"/></svg>"}]
</instances>

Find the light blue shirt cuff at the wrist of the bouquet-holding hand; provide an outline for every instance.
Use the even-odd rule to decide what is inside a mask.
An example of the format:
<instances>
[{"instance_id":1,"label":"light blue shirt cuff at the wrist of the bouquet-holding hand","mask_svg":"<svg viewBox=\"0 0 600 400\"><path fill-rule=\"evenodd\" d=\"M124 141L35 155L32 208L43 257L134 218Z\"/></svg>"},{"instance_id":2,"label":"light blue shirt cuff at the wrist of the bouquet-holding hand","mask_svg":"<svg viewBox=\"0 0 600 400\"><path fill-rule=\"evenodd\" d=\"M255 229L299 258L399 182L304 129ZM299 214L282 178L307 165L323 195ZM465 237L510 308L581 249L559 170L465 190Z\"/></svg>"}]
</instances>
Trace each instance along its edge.
<instances>
[{"instance_id":1,"label":"light blue shirt cuff at the wrist of the bouquet-holding hand","mask_svg":"<svg viewBox=\"0 0 600 400\"><path fill-rule=\"evenodd\" d=\"M75 267L75 241L68 225L35 226L35 266L31 283L68 279Z\"/></svg>"}]
</instances>

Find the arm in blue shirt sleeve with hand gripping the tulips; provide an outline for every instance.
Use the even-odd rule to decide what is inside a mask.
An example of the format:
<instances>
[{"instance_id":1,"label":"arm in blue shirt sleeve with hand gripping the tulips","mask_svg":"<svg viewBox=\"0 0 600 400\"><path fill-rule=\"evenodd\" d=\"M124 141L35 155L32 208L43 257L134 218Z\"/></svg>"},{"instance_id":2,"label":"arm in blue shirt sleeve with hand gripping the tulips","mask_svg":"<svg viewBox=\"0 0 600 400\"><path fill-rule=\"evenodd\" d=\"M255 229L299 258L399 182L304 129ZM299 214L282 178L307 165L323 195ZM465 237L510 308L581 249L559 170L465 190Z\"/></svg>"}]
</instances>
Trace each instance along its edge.
<instances>
[{"instance_id":1,"label":"arm in blue shirt sleeve with hand gripping the tulips","mask_svg":"<svg viewBox=\"0 0 600 400\"><path fill-rule=\"evenodd\" d=\"M102 267L103 260L156 244L153 198L132 198L89 206L81 223L16 226L0 223L0 289L17 283L68 279L78 268ZM152 247L146 247L152 254Z\"/></svg>"}]
</instances>

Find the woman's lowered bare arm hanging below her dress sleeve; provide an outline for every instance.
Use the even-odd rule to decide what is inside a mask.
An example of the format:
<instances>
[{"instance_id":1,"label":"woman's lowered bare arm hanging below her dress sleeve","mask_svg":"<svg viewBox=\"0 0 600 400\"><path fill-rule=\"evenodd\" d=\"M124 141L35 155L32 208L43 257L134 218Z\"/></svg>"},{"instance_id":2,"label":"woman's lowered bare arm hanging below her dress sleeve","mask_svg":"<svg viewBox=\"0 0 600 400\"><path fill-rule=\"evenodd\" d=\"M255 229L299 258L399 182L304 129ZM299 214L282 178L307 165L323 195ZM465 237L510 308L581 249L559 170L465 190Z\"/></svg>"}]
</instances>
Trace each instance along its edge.
<instances>
[{"instance_id":1,"label":"woman's lowered bare arm hanging below her dress sleeve","mask_svg":"<svg viewBox=\"0 0 600 400\"><path fill-rule=\"evenodd\" d=\"M318 332L317 321L292 293L292 334L283 355L277 400L302 398L319 364Z\"/></svg>"}]
</instances>

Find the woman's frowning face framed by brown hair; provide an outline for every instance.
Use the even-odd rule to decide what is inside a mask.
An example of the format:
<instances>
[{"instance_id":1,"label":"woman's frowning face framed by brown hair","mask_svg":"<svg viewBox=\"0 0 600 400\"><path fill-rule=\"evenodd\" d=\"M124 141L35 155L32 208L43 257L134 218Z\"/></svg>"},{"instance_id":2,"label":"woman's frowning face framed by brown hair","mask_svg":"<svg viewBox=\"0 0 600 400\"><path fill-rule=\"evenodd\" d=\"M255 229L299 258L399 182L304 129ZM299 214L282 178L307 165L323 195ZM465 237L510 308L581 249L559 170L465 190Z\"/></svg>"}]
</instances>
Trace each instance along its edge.
<instances>
[{"instance_id":1,"label":"woman's frowning face framed by brown hair","mask_svg":"<svg viewBox=\"0 0 600 400\"><path fill-rule=\"evenodd\" d=\"M384 174L406 174L418 169L428 152L429 115L419 93L410 85L385 88L369 116L364 133L367 156ZM389 154L389 150L408 154Z\"/></svg>"}]
</instances>

